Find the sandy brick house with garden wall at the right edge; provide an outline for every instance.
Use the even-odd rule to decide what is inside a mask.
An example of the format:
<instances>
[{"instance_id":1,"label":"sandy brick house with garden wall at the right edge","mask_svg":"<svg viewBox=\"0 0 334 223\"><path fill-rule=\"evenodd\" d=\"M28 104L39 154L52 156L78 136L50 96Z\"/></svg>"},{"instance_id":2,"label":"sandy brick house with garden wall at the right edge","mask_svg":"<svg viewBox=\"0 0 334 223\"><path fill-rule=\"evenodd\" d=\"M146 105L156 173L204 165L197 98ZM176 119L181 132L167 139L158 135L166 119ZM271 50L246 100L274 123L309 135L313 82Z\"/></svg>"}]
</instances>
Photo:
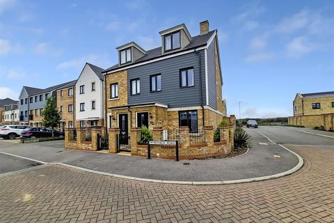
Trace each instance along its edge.
<instances>
[{"instance_id":1,"label":"sandy brick house with garden wall at the right edge","mask_svg":"<svg viewBox=\"0 0 334 223\"><path fill-rule=\"evenodd\" d=\"M288 118L289 125L334 129L334 91L297 93L292 105L294 116Z\"/></svg>"}]
</instances>

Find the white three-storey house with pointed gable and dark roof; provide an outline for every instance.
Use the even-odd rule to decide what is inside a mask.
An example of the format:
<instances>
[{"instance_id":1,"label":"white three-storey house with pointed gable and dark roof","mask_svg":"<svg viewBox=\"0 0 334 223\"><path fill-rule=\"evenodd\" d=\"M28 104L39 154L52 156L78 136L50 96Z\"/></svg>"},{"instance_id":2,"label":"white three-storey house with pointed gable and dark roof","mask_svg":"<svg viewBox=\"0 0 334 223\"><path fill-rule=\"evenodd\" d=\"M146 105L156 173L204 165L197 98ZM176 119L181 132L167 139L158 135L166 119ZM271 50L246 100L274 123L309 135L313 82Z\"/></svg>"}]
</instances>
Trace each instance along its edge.
<instances>
[{"instance_id":1,"label":"white three-storey house with pointed gable and dark roof","mask_svg":"<svg viewBox=\"0 0 334 223\"><path fill-rule=\"evenodd\" d=\"M75 89L76 127L104 126L104 76L103 69L86 63Z\"/></svg>"}]
</instances>

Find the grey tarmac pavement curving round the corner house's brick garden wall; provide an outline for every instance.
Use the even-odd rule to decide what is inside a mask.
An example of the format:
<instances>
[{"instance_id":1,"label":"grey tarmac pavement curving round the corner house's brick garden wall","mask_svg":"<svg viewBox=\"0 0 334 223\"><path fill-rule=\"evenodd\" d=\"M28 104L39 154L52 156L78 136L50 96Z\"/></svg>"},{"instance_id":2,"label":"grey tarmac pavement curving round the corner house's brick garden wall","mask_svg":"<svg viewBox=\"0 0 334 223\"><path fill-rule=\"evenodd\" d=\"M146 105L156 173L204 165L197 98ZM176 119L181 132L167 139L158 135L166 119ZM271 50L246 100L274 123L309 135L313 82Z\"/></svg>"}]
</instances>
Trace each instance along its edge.
<instances>
[{"instance_id":1,"label":"grey tarmac pavement curving round the corner house's brick garden wall","mask_svg":"<svg viewBox=\"0 0 334 223\"><path fill-rule=\"evenodd\" d=\"M252 136L252 146L248 153L239 157L215 160L171 160L152 159L88 151L70 151L63 148L63 141L47 141L34 144L8 144L0 142L0 152L29 157L42 162L61 162L93 171L118 174L136 178L172 181L226 181L245 178L259 178L280 174L296 167L298 157L285 148L273 144L259 132L269 132L271 128L247 129ZM281 129L273 128L275 134ZM257 132L258 131L258 132ZM291 129L285 130L292 134ZM267 133L266 133L267 134ZM305 134L297 132L294 134ZM307 135L313 141L322 139L317 135ZM260 143L260 144L259 144ZM184 165L184 162L189 165ZM1 164L0 164L1 168Z\"/></svg>"}]
</instances>

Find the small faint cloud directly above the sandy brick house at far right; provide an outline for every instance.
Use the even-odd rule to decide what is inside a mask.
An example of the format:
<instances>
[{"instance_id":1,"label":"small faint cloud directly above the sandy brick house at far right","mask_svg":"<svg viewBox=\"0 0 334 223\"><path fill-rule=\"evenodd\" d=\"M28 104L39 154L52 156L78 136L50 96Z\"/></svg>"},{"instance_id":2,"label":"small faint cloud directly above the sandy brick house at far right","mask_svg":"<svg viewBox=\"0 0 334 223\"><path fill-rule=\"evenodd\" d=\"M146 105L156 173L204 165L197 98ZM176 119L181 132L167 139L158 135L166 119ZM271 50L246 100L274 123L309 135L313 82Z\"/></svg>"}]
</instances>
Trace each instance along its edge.
<instances>
[{"instance_id":1,"label":"small faint cloud directly above the sandy brick house at far right","mask_svg":"<svg viewBox=\"0 0 334 223\"><path fill-rule=\"evenodd\" d=\"M294 38L287 44L287 55L292 58L300 58L303 54L307 54L315 49L315 45L308 41L305 36Z\"/></svg>"}]
</instances>

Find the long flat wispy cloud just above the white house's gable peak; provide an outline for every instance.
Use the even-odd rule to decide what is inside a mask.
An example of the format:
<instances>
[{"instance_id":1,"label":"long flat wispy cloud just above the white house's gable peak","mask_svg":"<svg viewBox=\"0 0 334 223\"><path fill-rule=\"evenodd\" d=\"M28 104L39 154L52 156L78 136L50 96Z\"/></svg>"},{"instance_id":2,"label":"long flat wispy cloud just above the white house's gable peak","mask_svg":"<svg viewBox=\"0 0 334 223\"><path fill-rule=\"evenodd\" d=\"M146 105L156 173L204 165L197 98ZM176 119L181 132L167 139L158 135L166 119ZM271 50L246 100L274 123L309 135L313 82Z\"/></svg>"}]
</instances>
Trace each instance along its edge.
<instances>
[{"instance_id":1,"label":"long flat wispy cloud just above the white house's gable peak","mask_svg":"<svg viewBox=\"0 0 334 223\"><path fill-rule=\"evenodd\" d=\"M65 61L59 63L56 67L57 69L63 70L68 68L84 68L86 62L93 63L95 66L110 66L111 62L106 55L103 54L88 54L86 56L81 56L78 59L72 59L70 61Z\"/></svg>"}]
</instances>

